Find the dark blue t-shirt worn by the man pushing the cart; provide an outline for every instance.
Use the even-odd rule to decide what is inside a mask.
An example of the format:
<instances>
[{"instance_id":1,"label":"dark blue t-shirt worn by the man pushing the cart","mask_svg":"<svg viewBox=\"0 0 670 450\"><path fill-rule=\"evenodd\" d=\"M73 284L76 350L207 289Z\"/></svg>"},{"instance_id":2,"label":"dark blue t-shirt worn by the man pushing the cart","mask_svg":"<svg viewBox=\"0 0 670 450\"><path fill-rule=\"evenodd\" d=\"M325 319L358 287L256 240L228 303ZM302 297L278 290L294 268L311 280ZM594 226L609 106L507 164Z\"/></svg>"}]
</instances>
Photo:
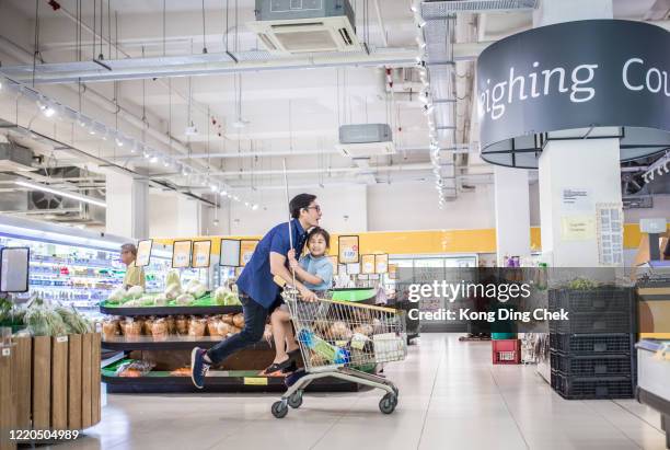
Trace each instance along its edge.
<instances>
[{"instance_id":1,"label":"dark blue t-shirt worn by the man pushing the cart","mask_svg":"<svg viewBox=\"0 0 670 450\"><path fill-rule=\"evenodd\" d=\"M291 220L291 231L296 255L300 255L307 241L307 232L298 219ZM262 307L272 307L277 293L279 293L279 286L273 280L269 254L275 252L287 256L289 250L291 250L291 245L288 222L279 223L268 231L256 245L254 254L242 269L240 278L238 278L238 288Z\"/></svg>"}]
</instances>

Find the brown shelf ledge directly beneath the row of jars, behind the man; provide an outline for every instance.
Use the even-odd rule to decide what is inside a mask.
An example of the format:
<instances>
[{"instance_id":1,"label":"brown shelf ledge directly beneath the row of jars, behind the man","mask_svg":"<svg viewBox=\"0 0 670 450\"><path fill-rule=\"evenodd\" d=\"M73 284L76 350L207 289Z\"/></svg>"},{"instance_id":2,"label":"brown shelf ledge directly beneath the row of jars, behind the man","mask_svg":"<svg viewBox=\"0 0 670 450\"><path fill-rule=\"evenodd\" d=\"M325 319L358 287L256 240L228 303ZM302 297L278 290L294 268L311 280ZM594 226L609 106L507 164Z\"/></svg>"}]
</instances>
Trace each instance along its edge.
<instances>
[{"instance_id":1,"label":"brown shelf ledge directly beneath the row of jars, behind the man","mask_svg":"<svg viewBox=\"0 0 670 450\"><path fill-rule=\"evenodd\" d=\"M130 339L115 336L104 338L102 346L109 350L190 350L194 347L210 348L221 341L220 336L169 335L165 339L155 339L153 336L137 336ZM261 341L246 349L268 350L270 346L265 341Z\"/></svg>"}]
</instances>

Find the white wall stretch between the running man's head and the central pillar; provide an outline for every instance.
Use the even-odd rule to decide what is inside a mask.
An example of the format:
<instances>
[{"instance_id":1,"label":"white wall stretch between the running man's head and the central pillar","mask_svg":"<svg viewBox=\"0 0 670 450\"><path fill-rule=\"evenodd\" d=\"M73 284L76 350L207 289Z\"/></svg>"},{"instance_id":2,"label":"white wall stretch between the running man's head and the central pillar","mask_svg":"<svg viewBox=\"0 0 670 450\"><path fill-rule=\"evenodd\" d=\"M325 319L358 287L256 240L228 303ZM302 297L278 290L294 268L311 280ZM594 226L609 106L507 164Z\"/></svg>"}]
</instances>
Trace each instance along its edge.
<instances>
[{"instance_id":1,"label":"white wall stretch between the running man's head and the central pillar","mask_svg":"<svg viewBox=\"0 0 670 450\"><path fill-rule=\"evenodd\" d=\"M444 209L438 208L432 183L368 187L368 229L439 230L494 228L493 185L461 193Z\"/></svg>"}]
</instances>

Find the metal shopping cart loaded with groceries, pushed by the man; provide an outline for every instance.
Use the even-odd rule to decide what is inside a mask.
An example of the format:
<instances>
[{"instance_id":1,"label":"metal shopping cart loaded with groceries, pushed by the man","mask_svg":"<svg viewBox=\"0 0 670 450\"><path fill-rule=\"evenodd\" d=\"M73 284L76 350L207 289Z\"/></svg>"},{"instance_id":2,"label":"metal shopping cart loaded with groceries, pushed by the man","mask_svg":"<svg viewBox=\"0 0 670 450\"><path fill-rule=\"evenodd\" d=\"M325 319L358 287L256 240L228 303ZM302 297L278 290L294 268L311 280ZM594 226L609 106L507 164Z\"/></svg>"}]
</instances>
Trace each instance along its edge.
<instances>
[{"instance_id":1,"label":"metal shopping cart loaded with groceries, pushed by the man","mask_svg":"<svg viewBox=\"0 0 670 450\"><path fill-rule=\"evenodd\" d=\"M405 312L324 299L307 302L289 290L285 291L284 299L291 313L307 374L273 404L273 415L281 418L288 414L288 406L300 407L305 388L326 377L385 391L379 408L384 414L393 413L397 388L369 372L379 364L405 359Z\"/></svg>"}]
</instances>

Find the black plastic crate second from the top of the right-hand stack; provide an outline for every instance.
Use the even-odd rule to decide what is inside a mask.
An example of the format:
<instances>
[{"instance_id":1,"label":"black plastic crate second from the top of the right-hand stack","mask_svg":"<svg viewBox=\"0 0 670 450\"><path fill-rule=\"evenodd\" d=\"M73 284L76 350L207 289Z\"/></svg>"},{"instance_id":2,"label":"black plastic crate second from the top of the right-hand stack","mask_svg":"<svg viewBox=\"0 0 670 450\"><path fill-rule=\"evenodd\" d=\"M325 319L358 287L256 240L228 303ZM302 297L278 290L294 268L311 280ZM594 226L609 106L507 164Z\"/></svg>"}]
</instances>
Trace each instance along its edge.
<instances>
[{"instance_id":1,"label":"black plastic crate second from the top of the right-hand stack","mask_svg":"<svg viewBox=\"0 0 670 450\"><path fill-rule=\"evenodd\" d=\"M633 312L569 313L567 321L550 321L550 333L635 333Z\"/></svg>"}]
</instances>

